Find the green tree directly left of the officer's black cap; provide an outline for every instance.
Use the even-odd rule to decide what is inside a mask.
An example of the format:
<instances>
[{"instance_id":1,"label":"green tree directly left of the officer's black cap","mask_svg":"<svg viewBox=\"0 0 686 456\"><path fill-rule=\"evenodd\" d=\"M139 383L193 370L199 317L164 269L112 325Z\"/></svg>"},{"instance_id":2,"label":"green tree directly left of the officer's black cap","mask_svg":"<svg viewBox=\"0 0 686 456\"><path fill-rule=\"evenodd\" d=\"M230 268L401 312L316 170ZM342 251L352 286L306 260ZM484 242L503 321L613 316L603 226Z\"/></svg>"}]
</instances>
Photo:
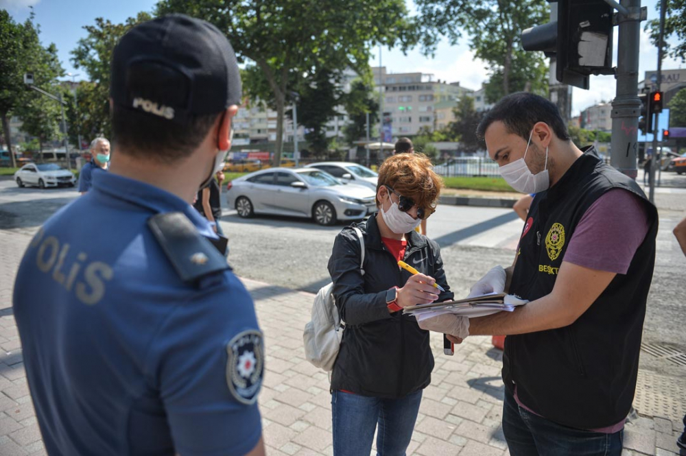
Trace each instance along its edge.
<instances>
[{"instance_id":1,"label":"green tree directly left of the officer's black cap","mask_svg":"<svg viewBox=\"0 0 686 456\"><path fill-rule=\"evenodd\" d=\"M152 16L140 12L122 24L115 24L99 17L95 25L85 25L88 32L81 38L76 49L71 51L71 62L75 68L86 71L91 82L82 82L77 90L78 111L73 106L73 97L68 99L67 113L70 125L80 125L86 139L102 134L112 136L110 125L110 62L119 38L139 23L150 21ZM78 112L78 115L77 115ZM73 128L72 130L76 130ZM72 139L74 136L71 136Z\"/></svg>"}]
</instances>

